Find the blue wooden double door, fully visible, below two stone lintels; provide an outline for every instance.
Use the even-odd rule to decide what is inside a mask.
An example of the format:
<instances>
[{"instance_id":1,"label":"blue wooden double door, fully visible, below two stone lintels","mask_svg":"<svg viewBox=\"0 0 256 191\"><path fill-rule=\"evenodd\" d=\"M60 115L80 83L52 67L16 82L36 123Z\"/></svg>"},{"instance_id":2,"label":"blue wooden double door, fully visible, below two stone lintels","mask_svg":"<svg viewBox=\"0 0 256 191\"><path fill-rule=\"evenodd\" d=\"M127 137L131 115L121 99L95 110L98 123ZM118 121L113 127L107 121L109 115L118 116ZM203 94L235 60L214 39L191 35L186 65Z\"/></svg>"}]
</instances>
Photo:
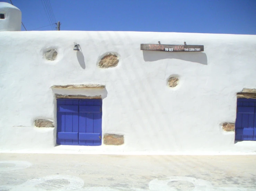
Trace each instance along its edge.
<instances>
[{"instance_id":1,"label":"blue wooden double door, fully visible, below two stone lintels","mask_svg":"<svg viewBox=\"0 0 256 191\"><path fill-rule=\"evenodd\" d=\"M57 99L57 144L101 145L102 100Z\"/></svg>"}]
</instances>

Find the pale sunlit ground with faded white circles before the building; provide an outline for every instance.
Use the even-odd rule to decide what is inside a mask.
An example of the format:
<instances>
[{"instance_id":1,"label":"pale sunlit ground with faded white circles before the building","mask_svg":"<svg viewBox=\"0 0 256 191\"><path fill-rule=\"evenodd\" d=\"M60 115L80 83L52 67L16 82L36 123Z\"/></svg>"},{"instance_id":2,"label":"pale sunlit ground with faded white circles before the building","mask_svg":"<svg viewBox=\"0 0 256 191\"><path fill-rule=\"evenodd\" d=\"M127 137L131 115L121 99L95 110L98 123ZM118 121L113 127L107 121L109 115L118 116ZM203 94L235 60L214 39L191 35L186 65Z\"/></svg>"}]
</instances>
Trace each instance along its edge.
<instances>
[{"instance_id":1,"label":"pale sunlit ground with faded white circles before the building","mask_svg":"<svg viewBox=\"0 0 256 191\"><path fill-rule=\"evenodd\" d=\"M256 191L256 155L1 153L0 190Z\"/></svg>"}]
</instances>

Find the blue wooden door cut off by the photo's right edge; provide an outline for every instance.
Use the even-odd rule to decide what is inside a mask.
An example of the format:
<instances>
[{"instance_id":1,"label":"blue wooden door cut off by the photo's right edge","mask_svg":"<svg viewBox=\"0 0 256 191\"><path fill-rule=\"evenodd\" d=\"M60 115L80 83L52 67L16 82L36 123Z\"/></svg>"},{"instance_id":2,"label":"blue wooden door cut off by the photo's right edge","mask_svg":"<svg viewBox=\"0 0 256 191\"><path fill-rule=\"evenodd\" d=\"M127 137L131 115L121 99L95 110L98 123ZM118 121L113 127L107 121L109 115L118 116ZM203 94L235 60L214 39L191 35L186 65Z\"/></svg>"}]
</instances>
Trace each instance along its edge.
<instances>
[{"instance_id":1,"label":"blue wooden door cut off by the photo's right edge","mask_svg":"<svg viewBox=\"0 0 256 191\"><path fill-rule=\"evenodd\" d=\"M235 140L256 141L256 99L237 99Z\"/></svg>"}]
</instances>

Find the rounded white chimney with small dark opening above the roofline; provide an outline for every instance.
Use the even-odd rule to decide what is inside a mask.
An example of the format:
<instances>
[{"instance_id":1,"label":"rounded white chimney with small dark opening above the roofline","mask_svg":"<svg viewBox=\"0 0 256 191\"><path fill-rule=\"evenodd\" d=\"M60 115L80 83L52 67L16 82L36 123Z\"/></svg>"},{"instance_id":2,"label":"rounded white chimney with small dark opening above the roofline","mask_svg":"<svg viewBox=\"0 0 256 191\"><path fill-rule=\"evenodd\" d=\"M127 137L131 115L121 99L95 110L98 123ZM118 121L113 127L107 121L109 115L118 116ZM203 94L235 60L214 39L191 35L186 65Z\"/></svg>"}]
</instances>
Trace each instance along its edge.
<instances>
[{"instance_id":1,"label":"rounded white chimney with small dark opening above the roofline","mask_svg":"<svg viewBox=\"0 0 256 191\"><path fill-rule=\"evenodd\" d=\"M21 11L10 3L0 2L0 31L21 31Z\"/></svg>"}]
</instances>

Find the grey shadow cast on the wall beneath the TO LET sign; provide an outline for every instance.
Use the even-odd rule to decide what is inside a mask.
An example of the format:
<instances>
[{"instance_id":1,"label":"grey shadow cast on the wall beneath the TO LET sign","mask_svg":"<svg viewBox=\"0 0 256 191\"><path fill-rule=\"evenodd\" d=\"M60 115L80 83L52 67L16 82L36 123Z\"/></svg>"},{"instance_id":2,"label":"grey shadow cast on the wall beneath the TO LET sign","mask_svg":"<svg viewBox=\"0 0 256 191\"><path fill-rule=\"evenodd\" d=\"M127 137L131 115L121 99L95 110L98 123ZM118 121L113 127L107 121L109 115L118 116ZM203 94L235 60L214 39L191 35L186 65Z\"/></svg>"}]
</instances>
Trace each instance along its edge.
<instances>
[{"instance_id":1,"label":"grey shadow cast on the wall beneath the TO LET sign","mask_svg":"<svg viewBox=\"0 0 256 191\"><path fill-rule=\"evenodd\" d=\"M207 57L203 52L157 52L143 50L143 58L146 62L153 62L162 59L179 59L189 62L197 62L207 65Z\"/></svg>"}]
</instances>

